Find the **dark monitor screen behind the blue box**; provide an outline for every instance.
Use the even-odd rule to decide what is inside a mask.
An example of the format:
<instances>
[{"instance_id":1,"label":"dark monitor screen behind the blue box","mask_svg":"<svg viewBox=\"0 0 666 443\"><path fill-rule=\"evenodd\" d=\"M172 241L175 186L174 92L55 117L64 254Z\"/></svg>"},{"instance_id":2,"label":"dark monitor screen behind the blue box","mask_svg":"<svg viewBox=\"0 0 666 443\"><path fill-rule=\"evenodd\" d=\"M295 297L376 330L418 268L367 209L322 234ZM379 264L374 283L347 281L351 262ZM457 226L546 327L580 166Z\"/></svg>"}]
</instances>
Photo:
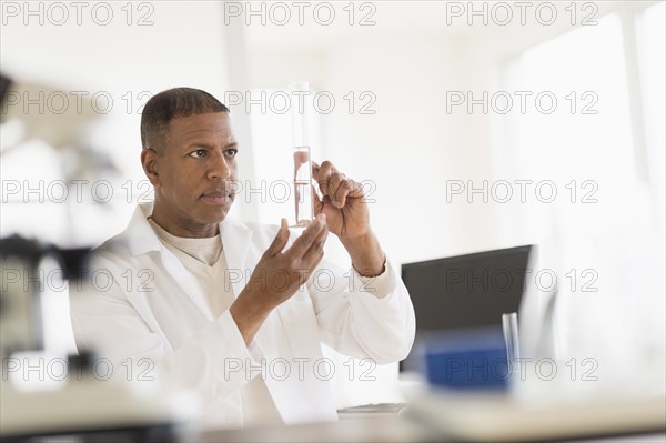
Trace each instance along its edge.
<instances>
[{"instance_id":1,"label":"dark monitor screen behind the blue box","mask_svg":"<svg viewBox=\"0 0 666 443\"><path fill-rule=\"evenodd\" d=\"M501 326L518 312L531 245L402 266L417 331Z\"/></svg>"}]
</instances>

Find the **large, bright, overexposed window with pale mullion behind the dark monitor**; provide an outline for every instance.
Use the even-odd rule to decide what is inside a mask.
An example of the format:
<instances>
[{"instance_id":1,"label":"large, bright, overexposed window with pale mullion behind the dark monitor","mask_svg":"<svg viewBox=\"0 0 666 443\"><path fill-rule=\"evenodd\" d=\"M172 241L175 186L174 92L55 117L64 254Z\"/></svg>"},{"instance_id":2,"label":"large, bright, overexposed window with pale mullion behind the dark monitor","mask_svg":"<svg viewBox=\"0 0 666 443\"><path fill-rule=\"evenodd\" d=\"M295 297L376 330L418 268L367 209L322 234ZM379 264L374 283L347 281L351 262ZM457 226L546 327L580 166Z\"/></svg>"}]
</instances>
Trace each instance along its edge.
<instances>
[{"instance_id":1,"label":"large, bright, overexposed window with pale mullion behind the dark monitor","mask_svg":"<svg viewBox=\"0 0 666 443\"><path fill-rule=\"evenodd\" d=\"M557 271L561 356L594 350L608 380L628 364L654 368L645 383L664 389L649 376L664 368L665 12L647 6L624 4L506 63L507 90L532 101L500 118L504 173L532 182L501 212L502 232L541 244Z\"/></svg>"}]
</instances>

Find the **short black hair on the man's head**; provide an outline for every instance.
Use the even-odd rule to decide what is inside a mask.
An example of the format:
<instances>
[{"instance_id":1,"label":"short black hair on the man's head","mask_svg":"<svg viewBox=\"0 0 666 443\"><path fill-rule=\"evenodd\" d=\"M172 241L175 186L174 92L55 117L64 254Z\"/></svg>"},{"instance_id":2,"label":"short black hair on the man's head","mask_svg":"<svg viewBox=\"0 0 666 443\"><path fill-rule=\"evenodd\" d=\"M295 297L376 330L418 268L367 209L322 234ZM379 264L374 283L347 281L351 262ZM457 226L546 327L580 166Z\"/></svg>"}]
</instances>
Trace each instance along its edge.
<instances>
[{"instance_id":1,"label":"short black hair on the man's head","mask_svg":"<svg viewBox=\"0 0 666 443\"><path fill-rule=\"evenodd\" d=\"M160 151L167 142L171 120L213 112L229 113L229 108L205 91L194 88L162 91L148 100L141 113L141 145Z\"/></svg>"}]
</instances>

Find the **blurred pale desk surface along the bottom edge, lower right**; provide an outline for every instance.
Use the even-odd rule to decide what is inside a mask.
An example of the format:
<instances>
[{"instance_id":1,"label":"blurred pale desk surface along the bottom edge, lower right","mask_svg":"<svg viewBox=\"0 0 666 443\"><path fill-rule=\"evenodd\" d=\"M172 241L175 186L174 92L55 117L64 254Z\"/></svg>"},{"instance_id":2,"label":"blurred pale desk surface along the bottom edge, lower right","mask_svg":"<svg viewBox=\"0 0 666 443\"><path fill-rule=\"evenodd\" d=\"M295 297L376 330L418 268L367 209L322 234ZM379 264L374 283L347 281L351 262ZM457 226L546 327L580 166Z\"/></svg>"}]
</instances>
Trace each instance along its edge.
<instances>
[{"instance_id":1,"label":"blurred pale desk surface along the bottom edge, lower right","mask_svg":"<svg viewBox=\"0 0 666 443\"><path fill-rule=\"evenodd\" d=\"M465 400L466 399L466 400ZM209 431L186 442L566 441L666 443L664 397L526 407L511 399L432 396L400 414L345 414L341 421ZM656 431L655 431L656 430Z\"/></svg>"}]
</instances>

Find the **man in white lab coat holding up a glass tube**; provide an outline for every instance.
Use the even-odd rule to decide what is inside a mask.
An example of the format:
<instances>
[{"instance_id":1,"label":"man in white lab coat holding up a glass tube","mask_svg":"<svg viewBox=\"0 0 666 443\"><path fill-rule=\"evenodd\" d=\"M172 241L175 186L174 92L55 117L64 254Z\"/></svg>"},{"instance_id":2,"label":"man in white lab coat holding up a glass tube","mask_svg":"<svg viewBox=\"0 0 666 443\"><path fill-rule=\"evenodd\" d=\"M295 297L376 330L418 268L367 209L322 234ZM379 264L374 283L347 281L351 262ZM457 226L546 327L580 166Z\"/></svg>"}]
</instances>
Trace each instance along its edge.
<instances>
[{"instance_id":1,"label":"man in white lab coat holding up a glass tube","mask_svg":"<svg viewBox=\"0 0 666 443\"><path fill-rule=\"evenodd\" d=\"M154 203L94 251L110 282L71 298L80 349L117 369L154 363L165 382L200 394L201 423L212 426L335 420L322 342L377 364L407 355L413 306L357 183L315 164L317 217L290 243L285 220L275 232L226 218L242 148L215 98L189 88L154 95L141 139ZM353 272L322 260L329 231Z\"/></svg>"}]
</instances>

